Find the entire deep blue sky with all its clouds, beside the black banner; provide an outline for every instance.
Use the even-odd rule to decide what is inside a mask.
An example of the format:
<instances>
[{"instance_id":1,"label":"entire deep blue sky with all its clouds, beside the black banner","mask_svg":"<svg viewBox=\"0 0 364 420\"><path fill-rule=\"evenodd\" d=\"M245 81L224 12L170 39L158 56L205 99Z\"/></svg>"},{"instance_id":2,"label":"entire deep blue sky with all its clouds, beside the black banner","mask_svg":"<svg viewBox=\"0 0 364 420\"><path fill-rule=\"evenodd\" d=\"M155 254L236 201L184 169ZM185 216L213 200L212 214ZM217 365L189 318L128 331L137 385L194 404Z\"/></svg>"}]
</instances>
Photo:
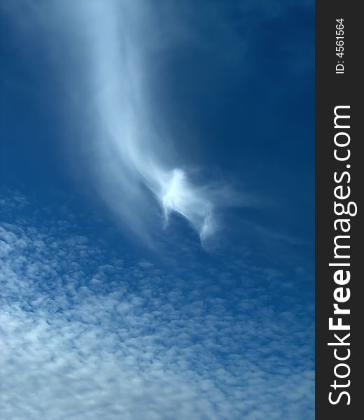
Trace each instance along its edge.
<instances>
[{"instance_id":1,"label":"entire deep blue sky with all its clouds, beside the black banner","mask_svg":"<svg viewBox=\"0 0 364 420\"><path fill-rule=\"evenodd\" d=\"M314 418L314 3L1 6L5 419Z\"/></svg>"}]
</instances>

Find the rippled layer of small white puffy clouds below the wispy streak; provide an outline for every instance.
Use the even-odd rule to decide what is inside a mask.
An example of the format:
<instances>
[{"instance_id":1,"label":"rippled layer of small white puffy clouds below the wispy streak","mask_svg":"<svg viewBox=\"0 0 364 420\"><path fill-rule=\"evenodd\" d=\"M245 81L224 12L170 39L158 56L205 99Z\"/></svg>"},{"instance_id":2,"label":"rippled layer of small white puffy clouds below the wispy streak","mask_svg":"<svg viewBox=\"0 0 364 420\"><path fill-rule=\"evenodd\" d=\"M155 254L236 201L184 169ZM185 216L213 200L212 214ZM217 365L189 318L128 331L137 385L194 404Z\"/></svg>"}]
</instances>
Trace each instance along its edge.
<instances>
[{"instance_id":1,"label":"rippled layer of small white puffy clouds below the wispy streak","mask_svg":"<svg viewBox=\"0 0 364 420\"><path fill-rule=\"evenodd\" d=\"M71 214L45 209L40 225L25 197L0 204L1 418L314 415L312 317L279 272L121 260ZM274 306L277 288L294 314Z\"/></svg>"}]
</instances>

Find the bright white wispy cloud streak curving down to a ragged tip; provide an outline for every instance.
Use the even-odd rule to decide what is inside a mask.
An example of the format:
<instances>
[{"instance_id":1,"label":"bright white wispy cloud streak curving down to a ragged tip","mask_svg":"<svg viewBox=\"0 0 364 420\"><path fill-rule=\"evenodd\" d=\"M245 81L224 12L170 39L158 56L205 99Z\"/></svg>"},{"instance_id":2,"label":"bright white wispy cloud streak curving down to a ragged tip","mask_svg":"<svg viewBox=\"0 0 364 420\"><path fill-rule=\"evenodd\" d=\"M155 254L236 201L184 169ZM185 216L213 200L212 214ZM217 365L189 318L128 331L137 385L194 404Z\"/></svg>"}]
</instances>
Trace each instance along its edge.
<instances>
[{"instance_id":1,"label":"bright white wispy cloud streak curving down to a ragged tip","mask_svg":"<svg viewBox=\"0 0 364 420\"><path fill-rule=\"evenodd\" d=\"M97 177L102 181L100 190L109 205L139 233L148 232L145 222L153 208L148 203L151 193L162 208L164 225L176 212L205 241L216 231L219 194L212 186L197 186L191 181L153 127L148 110L144 51L148 41L144 37L155 34L153 26L157 22L153 22L144 1L97 1L92 7L94 13L89 3L80 13L87 14L85 29L92 39L87 71L92 73L89 87L96 92L94 104L99 118L95 159L109 168ZM119 202L116 197L120 196L123 200Z\"/></svg>"}]
</instances>

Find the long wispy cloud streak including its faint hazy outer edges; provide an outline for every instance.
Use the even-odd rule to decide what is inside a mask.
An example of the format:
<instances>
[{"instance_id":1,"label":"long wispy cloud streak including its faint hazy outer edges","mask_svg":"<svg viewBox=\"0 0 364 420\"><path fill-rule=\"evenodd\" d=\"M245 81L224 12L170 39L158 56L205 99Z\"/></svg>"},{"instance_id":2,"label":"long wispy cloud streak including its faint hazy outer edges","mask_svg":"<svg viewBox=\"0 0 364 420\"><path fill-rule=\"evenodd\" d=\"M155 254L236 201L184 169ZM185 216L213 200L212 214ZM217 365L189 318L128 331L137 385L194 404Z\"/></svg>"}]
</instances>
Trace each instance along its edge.
<instances>
[{"instance_id":1,"label":"long wispy cloud streak including its faint hazy outer edges","mask_svg":"<svg viewBox=\"0 0 364 420\"><path fill-rule=\"evenodd\" d=\"M87 127L82 142L91 152L83 169L123 225L148 241L176 212L204 241L218 226L216 207L228 204L232 194L193 182L173 141L153 124L148 61L162 59L169 42L155 7L148 0L54 0L20 2L14 15L46 37L46 55L57 51L68 118Z\"/></svg>"}]
</instances>

